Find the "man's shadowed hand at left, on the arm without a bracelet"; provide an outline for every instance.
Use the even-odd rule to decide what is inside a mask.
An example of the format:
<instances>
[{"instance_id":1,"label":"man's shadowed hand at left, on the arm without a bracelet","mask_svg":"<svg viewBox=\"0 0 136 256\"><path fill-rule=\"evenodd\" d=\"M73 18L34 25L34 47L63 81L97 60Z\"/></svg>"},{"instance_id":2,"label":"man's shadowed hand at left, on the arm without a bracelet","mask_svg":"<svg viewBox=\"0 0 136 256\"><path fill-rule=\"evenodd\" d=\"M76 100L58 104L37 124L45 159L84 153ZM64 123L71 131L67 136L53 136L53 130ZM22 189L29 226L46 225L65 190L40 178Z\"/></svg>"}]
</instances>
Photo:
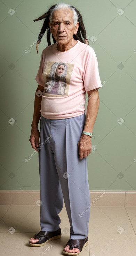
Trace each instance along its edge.
<instances>
[{"instance_id":1,"label":"man's shadowed hand at left, on the arm without a bracelet","mask_svg":"<svg viewBox=\"0 0 136 256\"><path fill-rule=\"evenodd\" d=\"M32 148L35 149L37 152L40 151L40 149L37 150L37 148L39 148L39 145L40 145L39 137L40 137L40 132L38 128L32 128L29 141L31 142Z\"/></svg>"}]
</instances>

